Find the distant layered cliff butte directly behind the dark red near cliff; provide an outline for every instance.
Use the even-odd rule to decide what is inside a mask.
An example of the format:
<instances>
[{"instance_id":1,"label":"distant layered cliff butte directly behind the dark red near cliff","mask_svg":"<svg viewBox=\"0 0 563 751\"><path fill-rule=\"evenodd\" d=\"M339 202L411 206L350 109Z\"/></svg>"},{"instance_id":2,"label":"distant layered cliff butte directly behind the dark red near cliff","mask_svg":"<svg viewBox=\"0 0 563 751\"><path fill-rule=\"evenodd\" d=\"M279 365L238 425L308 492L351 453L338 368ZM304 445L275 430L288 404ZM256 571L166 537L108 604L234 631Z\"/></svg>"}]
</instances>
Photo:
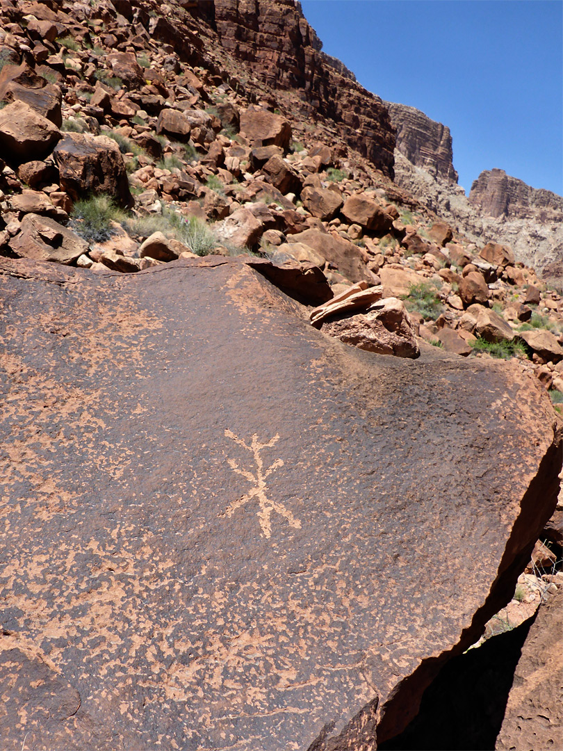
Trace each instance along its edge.
<instances>
[{"instance_id":1,"label":"distant layered cliff butte directly behind the dark red near cliff","mask_svg":"<svg viewBox=\"0 0 563 751\"><path fill-rule=\"evenodd\" d=\"M430 174L447 182L457 182L450 128L406 104L386 101L385 105L397 131L396 148L399 152Z\"/></svg>"}]
</instances>

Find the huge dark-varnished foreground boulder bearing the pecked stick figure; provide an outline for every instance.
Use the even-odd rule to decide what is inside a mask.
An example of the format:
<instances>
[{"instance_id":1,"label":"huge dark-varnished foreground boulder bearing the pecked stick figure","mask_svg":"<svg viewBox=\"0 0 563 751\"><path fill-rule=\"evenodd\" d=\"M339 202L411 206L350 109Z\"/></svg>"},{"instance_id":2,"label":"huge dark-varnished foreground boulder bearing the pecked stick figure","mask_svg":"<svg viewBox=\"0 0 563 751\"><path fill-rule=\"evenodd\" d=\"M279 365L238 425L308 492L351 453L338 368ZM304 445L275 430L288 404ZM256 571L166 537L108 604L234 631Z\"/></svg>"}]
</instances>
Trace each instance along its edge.
<instances>
[{"instance_id":1,"label":"huge dark-varnished foreground boulder bearing the pecked stick figure","mask_svg":"<svg viewBox=\"0 0 563 751\"><path fill-rule=\"evenodd\" d=\"M348 347L241 261L0 264L4 747L400 731L555 506L540 386Z\"/></svg>"}]
</instances>

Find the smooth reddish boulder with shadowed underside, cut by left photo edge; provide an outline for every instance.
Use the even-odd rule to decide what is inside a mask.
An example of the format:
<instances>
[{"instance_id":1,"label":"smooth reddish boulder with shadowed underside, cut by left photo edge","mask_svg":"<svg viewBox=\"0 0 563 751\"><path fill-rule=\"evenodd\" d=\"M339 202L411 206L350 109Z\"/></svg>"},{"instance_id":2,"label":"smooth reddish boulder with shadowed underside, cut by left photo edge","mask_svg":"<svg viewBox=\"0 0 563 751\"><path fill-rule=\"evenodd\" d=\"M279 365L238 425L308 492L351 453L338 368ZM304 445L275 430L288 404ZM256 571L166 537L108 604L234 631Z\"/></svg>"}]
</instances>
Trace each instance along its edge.
<instances>
[{"instance_id":1,"label":"smooth reddish boulder with shadowed underside, cut by left photo edge","mask_svg":"<svg viewBox=\"0 0 563 751\"><path fill-rule=\"evenodd\" d=\"M59 128L23 101L0 110L0 157L11 164L43 159L61 137Z\"/></svg>"}]
</instances>

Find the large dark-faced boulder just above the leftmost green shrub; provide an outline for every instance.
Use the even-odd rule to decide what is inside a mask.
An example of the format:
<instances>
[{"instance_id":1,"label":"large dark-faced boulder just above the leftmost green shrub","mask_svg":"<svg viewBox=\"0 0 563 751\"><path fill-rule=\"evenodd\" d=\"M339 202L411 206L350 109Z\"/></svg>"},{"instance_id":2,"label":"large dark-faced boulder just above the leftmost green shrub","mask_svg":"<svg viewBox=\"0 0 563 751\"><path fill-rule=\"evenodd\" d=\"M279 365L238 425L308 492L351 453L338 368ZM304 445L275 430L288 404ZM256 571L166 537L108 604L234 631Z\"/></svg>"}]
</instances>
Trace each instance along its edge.
<instances>
[{"instance_id":1,"label":"large dark-faced boulder just above the leftmost green shrub","mask_svg":"<svg viewBox=\"0 0 563 751\"><path fill-rule=\"evenodd\" d=\"M73 201L91 193L108 193L122 207L133 203L125 162L112 138L65 133L53 154L61 188Z\"/></svg>"}]
</instances>

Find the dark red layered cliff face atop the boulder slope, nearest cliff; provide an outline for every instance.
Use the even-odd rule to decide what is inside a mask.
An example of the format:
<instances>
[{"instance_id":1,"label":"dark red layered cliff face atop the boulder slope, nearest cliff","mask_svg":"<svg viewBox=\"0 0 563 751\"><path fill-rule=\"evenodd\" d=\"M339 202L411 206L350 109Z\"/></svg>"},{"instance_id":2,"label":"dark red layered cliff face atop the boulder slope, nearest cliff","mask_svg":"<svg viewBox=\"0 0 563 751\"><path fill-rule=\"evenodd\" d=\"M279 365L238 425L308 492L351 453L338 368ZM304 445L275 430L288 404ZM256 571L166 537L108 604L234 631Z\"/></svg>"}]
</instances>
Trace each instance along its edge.
<instances>
[{"instance_id":1,"label":"dark red layered cliff face atop the boulder slope, nearest cliff","mask_svg":"<svg viewBox=\"0 0 563 751\"><path fill-rule=\"evenodd\" d=\"M332 119L345 141L393 175L395 131L384 102L356 82L294 0L215 0L206 5L221 46L276 89L297 89L305 113Z\"/></svg>"}]
</instances>

